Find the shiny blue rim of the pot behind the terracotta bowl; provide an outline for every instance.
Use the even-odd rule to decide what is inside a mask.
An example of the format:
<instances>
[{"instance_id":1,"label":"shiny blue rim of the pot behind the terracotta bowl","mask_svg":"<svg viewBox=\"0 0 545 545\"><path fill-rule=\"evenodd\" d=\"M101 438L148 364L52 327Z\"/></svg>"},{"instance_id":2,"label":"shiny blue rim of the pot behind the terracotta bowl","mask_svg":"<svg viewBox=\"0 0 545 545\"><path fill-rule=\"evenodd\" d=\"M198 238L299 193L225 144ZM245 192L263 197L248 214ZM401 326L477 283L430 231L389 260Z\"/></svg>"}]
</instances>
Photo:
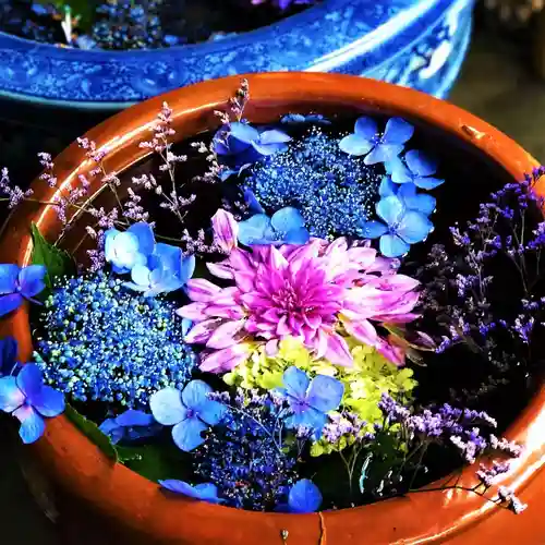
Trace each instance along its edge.
<instances>
[{"instance_id":1,"label":"shiny blue rim of the pot behind the terracotta bowl","mask_svg":"<svg viewBox=\"0 0 545 545\"><path fill-rule=\"evenodd\" d=\"M25 80L13 84L0 77L0 95L52 106L119 109L182 85L234 73L335 71L355 56L367 57L366 64L371 70L391 57L386 55L392 53L391 47L387 47L389 43L396 41L396 51L410 47L420 35L437 24L445 12L458 3L461 3L460 0L388 0L384 3L375 0L324 0L299 14L239 36L219 41L141 51L62 48L0 33L0 53L8 56L7 59L0 58L0 74L2 71L22 70L22 61L31 65L28 70L39 71L41 61L48 63L48 75L57 82L51 85L34 78L33 82L27 83ZM319 39L316 39L316 36ZM10 52L13 56L11 68ZM231 65L223 63L223 59L229 55L235 56ZM255 69L253 61L256 61ZM88 98L73 97L62 83L68 77L66 72L71 72L70 65L76 69L85 64L89 74L96 70L99 74L95 80L98 81L101 71L108 73L112 68L119 70L121 65L133 65L133 70L141 66L145 72L146 69L160 63L166 66L179 65L182 73L190 72L193 64L216 65L209 70L211 75L206 73L206 69L203 71L203 77L179 74L171 84L165 83L158 85L157 89L147 90L128 88L124 96L107 90L97 93L96 96L89 93ZM74 70L73 73L76 72ZM93 75L89 75L89 78L93 80ZM114 76L112 78L114 81ZM126 84L122 77L120 82Z\"/></svg>"}]
</instances>

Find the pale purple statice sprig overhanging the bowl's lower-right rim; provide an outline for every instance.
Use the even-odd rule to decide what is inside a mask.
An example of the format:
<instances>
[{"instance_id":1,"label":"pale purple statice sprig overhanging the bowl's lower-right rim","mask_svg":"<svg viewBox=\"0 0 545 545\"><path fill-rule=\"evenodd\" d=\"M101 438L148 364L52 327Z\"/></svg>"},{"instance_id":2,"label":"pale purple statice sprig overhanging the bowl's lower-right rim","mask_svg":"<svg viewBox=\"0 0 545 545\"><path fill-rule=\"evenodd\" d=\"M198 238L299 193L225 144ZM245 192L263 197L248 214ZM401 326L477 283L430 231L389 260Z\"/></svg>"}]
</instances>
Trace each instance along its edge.
<instances>
[{"instance_id":1,"label":"pale purple statice sprig overhanging the bowl's lower-right rim","mask_svg":"<svg viewBox=\"0 0 545 545\"><path fill-rule=\"evenodd\" d=\"M484 411L453 408L448 403L429 408L407 408L384 393L379 402L379 408L385 415L380 426L389 433L393 433L399 438L399 444L404 445L405 456L403 463L398 470L398 475L403 473L407 462L417 459L412 477L407 485L407 492L413 491L417 472L425 471L425 453L432 445L439 445L444 448L453 447L460 457L470 464L476 463L492 455L501 455L502 460L494 459L489 464L480 463L475 472L477 482L469 487L459 484L459 479L455 484L445 485L438 489L463 489L482 496L514 513L522 512L525 506L505 486L497 489L497 498L489 497L489 491L497 483L497 477L510 470L510 461L506 457L517 458L522 452L522 447L506 438L498 438L493 433L484 429L495 428L496 421ZM391 474L388 475L391 481ZM398 479L399 483L400 480ZM421 491L431 491L422 488Z\"/></svg>"}]
</instances>

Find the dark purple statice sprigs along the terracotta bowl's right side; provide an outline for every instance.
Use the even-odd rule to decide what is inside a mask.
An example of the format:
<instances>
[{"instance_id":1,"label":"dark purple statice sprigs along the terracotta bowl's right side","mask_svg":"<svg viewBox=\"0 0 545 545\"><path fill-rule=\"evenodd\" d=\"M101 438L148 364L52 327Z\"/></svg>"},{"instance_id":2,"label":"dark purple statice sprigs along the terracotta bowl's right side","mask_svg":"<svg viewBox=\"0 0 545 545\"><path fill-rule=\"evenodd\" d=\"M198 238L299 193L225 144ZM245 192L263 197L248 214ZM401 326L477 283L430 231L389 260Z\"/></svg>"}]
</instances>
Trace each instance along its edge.
<instances>
[{"instance_id":1,"label":"dark purple statice sprigs along the terracotta bowl's right side","mask_svg":"<svg viewBox=\"0 0 545 545\"><path fill-rule=\"evenodd\" d=\"M467 391L468 399L502 384L513 365L535 364L532 339L545 322L545 298L536 290L544 272L545 222L536 219L544 199L535 184L544 173L540 167L492 193L473 220L450 228L450 243L434 245L416 272L426 314L440 326L437 352L465 343L495 370L477 393ZM513 298L518 308L498 299L504 293L498 271L509 266L514 280L509 289L520 293Z\"/></svg>"}]
</instances>

